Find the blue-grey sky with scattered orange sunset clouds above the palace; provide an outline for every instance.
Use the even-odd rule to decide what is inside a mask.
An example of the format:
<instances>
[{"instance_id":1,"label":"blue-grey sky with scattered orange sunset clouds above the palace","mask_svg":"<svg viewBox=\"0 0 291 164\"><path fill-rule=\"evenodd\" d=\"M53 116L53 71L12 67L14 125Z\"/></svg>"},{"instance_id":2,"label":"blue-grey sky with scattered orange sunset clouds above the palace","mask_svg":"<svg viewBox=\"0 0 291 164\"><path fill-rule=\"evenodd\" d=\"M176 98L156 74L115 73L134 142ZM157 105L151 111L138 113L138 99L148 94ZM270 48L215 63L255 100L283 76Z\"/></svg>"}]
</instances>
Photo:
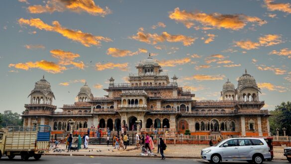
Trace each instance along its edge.
<instances>
[{"instance_id":1,"label":"blue-grey sky with scattered orange sunset clouds above the palace","mask_svg":"<svg viewBox=\"0 0 291 164\"><path fill-rule=\"evenodd\" d=\"M94 96L151 53L194 99L220 99L247 69L265 109L291 100L289 0L5 0L0 5L0 112L21 113L34 83L53 104ZM60 110L60 109L58 109Z\"/></svg>"}]
</instances>

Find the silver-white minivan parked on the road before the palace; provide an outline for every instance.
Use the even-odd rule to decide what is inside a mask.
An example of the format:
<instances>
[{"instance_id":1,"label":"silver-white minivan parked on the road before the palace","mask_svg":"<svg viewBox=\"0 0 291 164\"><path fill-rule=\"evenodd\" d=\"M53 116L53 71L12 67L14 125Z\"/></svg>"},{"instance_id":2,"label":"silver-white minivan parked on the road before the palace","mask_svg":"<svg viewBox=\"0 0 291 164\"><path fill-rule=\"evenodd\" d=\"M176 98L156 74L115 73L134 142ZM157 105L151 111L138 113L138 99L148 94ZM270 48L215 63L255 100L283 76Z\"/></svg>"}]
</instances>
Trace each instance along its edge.
<instances>
[{"instance_id":1,"label":"silver-white minivan parked on the road before the palace","mask_svg":"<svg viewBox=\"0 0 291 164\"><path fill-rule=\"evenodd\" d=\"M218 164L222 160L239 160L262 164L271 159L270 148L263 138L230 138L202 149L201 158Z\"/></svg>"}]
</instances>

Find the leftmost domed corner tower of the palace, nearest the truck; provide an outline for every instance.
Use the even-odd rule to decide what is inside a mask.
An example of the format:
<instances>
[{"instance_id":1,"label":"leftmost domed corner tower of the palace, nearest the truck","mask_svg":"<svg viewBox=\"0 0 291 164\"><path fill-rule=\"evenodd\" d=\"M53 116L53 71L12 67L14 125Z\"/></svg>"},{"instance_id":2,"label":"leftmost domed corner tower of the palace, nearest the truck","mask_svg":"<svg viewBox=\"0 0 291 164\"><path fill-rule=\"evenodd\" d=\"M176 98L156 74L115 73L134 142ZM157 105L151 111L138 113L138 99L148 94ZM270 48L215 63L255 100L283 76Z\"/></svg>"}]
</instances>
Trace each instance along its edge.
<instances>
[{"instance_id":1,"label":"leftmost domed corner tower of the palace, nearest the truck","mask_svg":"<svg viewBox=\"0 0 291 164\"><path fill-rule=\"evenodd\" d=\"M44 79L44 76L38 82L35 82L34 89L28 95L30 103L25 104L25 111L22 115L24 126L48 125L49 117L56 110L57 106L53 105L55 99L51 90L51 85Z\"/></svg>"}]
</instances>

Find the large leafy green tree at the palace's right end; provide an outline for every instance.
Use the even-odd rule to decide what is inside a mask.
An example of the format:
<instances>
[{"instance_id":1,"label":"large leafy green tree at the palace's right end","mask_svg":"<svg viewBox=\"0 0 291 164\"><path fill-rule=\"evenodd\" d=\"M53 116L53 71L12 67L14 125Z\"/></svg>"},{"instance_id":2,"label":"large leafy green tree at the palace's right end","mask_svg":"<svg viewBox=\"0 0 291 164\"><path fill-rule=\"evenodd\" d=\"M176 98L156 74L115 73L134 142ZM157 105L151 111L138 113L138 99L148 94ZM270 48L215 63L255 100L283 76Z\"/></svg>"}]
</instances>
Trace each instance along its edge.
<instances>
[{"instance_id":1,"label":"large leafy green tree at the palace's right end","mask_svg":"<svg viewBox=\"0 0 291 164\"><path fill-rule=\"evenodd\" d=\"M286 135L291 135L291 102L282 102L277 105L274 111L271 111L272 116L269 117L270 131L272 134L277 134L277 128L279 134L283 135L283 128L286 128Z\"/></svg>"}]
</instances>

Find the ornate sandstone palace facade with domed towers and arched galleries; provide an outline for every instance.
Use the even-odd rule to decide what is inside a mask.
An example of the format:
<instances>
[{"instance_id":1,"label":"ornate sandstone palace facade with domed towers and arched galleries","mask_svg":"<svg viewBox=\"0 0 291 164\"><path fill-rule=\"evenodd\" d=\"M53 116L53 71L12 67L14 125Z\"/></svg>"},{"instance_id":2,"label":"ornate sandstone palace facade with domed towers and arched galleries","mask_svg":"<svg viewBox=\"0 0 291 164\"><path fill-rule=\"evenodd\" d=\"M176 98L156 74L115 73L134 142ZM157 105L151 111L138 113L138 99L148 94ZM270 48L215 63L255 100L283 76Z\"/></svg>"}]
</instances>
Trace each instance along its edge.
<instances>
[{"instance_id":1,"label":"ornate sandstone palace facade with domed towers and arched galleries","mask_svg":"<svg viewBox=\"0 0 291 164\"><path fill-rule=\"evenodd\" d=\"M237 88L229 81L223 84L222 100L197 101L191 90L180 87L176 76L170 79L151 56L136 69L129 83L114 83L111 77L104 97L94 97L85 84L78 102L63 105L62 112L55 112L54 93L43 78L29 94L30 103L24 105L24 125L50 125L53 134L62 134L98 124L113 131L127 124L132 130L139 120L142 131L166 126L177 134L189 129L192 135L270 136L269 113L262 110L260 88L247 71L238 79Z\"/></svg>"}]
</instances>

